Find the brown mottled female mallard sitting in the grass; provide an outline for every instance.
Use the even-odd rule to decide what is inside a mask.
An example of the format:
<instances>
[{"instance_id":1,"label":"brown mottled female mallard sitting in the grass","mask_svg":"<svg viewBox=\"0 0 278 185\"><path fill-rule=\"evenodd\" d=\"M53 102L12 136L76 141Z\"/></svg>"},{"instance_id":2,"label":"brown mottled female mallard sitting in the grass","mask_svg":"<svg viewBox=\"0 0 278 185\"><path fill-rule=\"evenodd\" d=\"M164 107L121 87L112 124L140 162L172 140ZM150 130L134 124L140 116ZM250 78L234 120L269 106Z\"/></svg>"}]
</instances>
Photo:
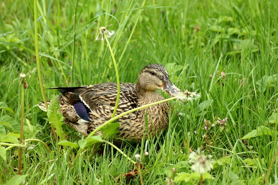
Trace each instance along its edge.
<instances>
[{"instance_id":1,"label":"brown mottled female mallard sitting in the grass","mask_svg":"<svg viewBox=\"0 0 278 185\"><path fill-rule=\"evenodd\" d=\"M78 132L88 135L98 126L109 120L114 111L117 97L116 83L102 83L82 87L54 87L62 94L57 98L64 122ZM164 66L149 64L138 77L137 84L120 83L120 100L116 115L149 103L164 100L156 90L162 89L171 94L175 85L169 80ZM50 103L50 102L48 102ZM45 110L43 102L40 109ZM148 132L155 136L165 131L169 122L168 102L152 105L145 109L122 116L117 138L128 140L142 139L146 128L145 113L148 115ZM102 136L100 131L98 135Z\"/></svg>"}]
</instances>

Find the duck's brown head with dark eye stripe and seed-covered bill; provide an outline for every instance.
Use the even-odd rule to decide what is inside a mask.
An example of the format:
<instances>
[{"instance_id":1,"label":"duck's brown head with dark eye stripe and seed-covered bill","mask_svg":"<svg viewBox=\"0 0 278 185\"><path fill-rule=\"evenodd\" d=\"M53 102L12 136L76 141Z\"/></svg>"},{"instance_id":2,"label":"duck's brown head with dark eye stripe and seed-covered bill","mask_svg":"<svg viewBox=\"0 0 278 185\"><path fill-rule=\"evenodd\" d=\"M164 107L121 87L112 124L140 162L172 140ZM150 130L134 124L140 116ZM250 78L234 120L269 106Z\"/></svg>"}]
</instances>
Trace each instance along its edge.
<instances>
[{"instance_id":1,"label":"duck's brown head with dark eye stripe and seed-covered bill","mask_svg":"<svg viewBox=\"0 0 278 185\"><path fill-rule=\"evenodd\" d=\"M169 79L169 74L165 67L160 64L149 64L142 69L137 80L137 86L145 91L162 91L171 96L180 91Z\"/></svg>"}]
</instances>

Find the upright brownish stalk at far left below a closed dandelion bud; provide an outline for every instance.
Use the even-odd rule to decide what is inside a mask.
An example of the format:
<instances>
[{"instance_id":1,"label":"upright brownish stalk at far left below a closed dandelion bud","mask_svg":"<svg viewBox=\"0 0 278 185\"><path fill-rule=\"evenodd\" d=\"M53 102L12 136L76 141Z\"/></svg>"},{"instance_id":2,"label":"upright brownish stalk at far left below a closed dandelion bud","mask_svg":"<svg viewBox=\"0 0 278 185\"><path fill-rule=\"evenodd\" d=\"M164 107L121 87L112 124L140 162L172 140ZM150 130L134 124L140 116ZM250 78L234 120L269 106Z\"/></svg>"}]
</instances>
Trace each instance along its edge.
<instances>
[{"instance_id":1,"label":"upright brownish stalk at far left below a closed dandelion bud","mask_svg":"<svg viewBox=\"0 0 278 185\"><path fill-rule=\"evenodd\" d=\"M25 79L23 79L24 81ZM21 83L21 120L20 120L20 137L19 144L23 142L23 118L24 118L24 82ZM18 175L21 175L22 170L22 149L19 147L18 152Z\"/></svg>"}]
</instances>

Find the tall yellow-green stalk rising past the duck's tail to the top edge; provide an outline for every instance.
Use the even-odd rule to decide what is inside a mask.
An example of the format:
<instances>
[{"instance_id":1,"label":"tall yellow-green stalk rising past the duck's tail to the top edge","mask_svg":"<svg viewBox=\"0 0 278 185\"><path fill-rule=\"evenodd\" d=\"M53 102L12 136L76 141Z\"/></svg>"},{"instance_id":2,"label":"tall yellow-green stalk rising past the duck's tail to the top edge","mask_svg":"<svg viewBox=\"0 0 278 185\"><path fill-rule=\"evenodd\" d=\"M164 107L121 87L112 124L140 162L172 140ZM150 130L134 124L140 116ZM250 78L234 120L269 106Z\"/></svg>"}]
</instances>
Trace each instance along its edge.
<instances>
[{"instance_id":1,"label":"tall yellow-green stalk rising past the duck's tail to the top edge","mask_svg":"<svg viewBox=\"0 0 278 185\"><path fill-rule=\"evenodd\" d=\"M46 96L45 96L45 91L43 88L43 80L41 78L41 65L40 65L40 56L39 56L39 41L38 41L38 15L37 15L37 1L34 0L34 22L35 22L35 47L36 47L36 63L37 63L37 70L38 70L38 76L39 76L39 83L40 83L40 87L41 87L41 94L43 95L43 102L45 104L45 108L46 110L48 109L48 105L47 105L47 100L46 100ZM53 127L52 123L50 123L51 125L51 130L52 133L54 135L54 139L57 142L57 133L55 132L55 128Z\"/></svg>"}]
</instances>

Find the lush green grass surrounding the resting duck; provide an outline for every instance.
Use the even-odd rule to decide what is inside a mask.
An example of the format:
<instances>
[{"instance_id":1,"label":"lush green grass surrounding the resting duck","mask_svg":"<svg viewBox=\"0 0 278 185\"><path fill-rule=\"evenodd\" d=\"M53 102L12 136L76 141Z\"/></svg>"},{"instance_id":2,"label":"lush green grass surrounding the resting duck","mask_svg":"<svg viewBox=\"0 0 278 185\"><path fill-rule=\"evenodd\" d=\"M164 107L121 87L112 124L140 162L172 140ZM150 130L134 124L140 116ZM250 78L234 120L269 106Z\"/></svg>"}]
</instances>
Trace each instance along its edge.
<instances>
[{"instance_id":1,"label":"lush green grass surrounding the resting duck","mask_svg":"<svg viewBox=\"0 0 278 185\"><path fill-rule=\"evenodd\" d=\"M191 164L186 163L189 153L201 146L217 163L210 172L215 179L206 179L205 184L266 183L268 167L278 150L277 125L268 120L277 113L278 105L278 80L268 80L278 74L277 1L80 0L76 32L69 1L51 2L50 7L48 1L37 2L45 88L116 82L106 43L95 41L101 26L113 24L109 29L116 34L109 42L116 61L120 59L120 82L136 83L145 65L160 63L167 68L173 84L202 94L191 103L170 102L167 131L159 140L149 138L150 163L145 167L150 173L143 171L144 184L164 184L172 167L177 173L191 174ZM139 176L131 181L122 177L115 180L132 171L134 165L108 144L104 145L103 156L94 158L90 157L90 150L78 158L73 148L59 152L46 113L36 106L43 97L34 52L33 3L14 1L0 5L0 97L14 111L1 109L0 116L8 114L19 122L19 74L25 73L29 87L25 90L24 138L43 140L52 150L49 154L43 145L34 142L32 150L23 151L22 174L28 174L26 182L139 184ZM71 4L75 6L76 1ZM221 72L225 73L224 78ZM48 99L58 94L54 90L45 93ZM216 125L204 129L204 119L217 123L217 118L226 117L228 121L222 128ZM268 127L272 134L240 140L259 126ZM72 128L64 128L69 141L83 138ZM144 142L123 146L122 151L135 160L136 153L143 154ZM8 150L6 155L6 161L0 159L4 183L18 173L17 148ZM268 184L277 183L277 167L274 160ZM200 180L187 183L200 184Z\"/></svg>"}]
</instances>

